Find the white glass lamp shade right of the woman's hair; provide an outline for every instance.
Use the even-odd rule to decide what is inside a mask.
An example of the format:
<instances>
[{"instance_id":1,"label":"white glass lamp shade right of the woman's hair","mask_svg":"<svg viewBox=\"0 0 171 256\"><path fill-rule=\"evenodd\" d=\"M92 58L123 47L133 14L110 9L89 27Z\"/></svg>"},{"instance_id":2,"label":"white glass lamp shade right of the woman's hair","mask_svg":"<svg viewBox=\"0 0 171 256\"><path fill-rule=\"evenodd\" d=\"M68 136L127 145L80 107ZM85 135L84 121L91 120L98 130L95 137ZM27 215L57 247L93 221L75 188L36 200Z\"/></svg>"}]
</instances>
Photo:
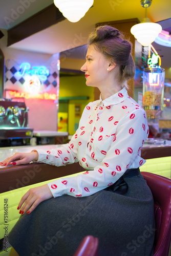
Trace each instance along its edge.
<instances>
[{"instance_id":1,"label":"white glass lamp shade right of the woman's hair","mask_svg":"<svg viewBox=\"0 0 171 256\"><path fill-rule=\"evenodd\" d=\"M142 46L152 44L161 31L162 27L152 22L139 23L131 28L131 33Z\"/></svg>"}]
</instances>

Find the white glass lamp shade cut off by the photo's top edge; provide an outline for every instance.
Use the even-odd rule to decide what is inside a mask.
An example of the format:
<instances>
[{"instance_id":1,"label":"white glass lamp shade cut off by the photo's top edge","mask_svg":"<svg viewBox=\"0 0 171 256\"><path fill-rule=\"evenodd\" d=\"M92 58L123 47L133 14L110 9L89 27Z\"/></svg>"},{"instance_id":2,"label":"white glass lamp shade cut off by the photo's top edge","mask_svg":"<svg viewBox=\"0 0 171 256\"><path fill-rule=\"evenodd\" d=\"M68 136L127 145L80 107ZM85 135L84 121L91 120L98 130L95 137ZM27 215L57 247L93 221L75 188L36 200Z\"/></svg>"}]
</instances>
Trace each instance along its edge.
<instances>
[{"instance_id":1,"label":"white glass lamp shade cut off by the photo's top edge","mask_svg":"<svg viewBox=\"0 0 171 256\"><path fill-rule=\"evenodd\" d=\"M93 0L54 0L55 6L70 22L78 22L93 2Z\"/></svg>"}]
</instances>

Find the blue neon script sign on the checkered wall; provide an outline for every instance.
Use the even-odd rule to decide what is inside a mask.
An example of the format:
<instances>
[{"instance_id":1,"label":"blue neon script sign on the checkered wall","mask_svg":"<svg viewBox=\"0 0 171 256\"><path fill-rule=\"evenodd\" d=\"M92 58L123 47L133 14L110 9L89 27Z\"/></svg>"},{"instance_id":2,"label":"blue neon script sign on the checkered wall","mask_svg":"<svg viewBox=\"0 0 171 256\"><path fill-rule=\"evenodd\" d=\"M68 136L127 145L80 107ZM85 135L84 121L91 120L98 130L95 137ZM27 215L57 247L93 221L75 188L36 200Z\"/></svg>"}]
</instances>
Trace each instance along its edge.
<instances>
[{"instance_id":1,"label":"blue neon script sign on the checkered wall","mask_svg":"<svg viewBox=\"0 0 171 256\"><path fill-rule=\"evenodd\" d=\"M36 75L40 80L45 81L49 76L49 70L45 66L32 67L30 63L24 62L20 65L19 71L16 72L17 76Z\"/></svg>"}]
</instances>

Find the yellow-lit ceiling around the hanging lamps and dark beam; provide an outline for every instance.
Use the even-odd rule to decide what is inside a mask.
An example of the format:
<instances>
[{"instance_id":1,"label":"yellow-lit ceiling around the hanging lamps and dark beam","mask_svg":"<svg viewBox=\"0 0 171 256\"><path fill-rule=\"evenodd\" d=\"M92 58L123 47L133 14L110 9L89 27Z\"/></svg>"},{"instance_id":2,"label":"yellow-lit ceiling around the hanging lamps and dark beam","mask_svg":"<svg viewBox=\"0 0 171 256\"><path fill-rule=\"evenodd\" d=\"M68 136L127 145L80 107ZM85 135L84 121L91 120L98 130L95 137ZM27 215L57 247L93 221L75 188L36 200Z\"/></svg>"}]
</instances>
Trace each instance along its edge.
<instances>
[{"instance_id":1,"label":"yellow-lit ceiling around the hanging lamps and dark beam","mask_svg":"<svg viewBox=\"0 0 171 256\"><path fill-rule=\"evenodd\" d=\"M53 0L0 0L0 30L6 30L24 22L27 18L53 4ZM153 0L147 9L147 16L152 22L160 23L162 29L171 31L170 0ZM41 30L10 48L54 54L69 50L68 57L82 58L82 48L87 43L89 33L96 23L112 20L144 18L144 8L140 0L94 0L93 7L77 23L62 20L47 29ZM45 17L46 19L46 17ZM153 43L162 59L162 67L171 67L171 47ZM70 50L76 48L76 50Z\"/></svg>"}]
</instances>

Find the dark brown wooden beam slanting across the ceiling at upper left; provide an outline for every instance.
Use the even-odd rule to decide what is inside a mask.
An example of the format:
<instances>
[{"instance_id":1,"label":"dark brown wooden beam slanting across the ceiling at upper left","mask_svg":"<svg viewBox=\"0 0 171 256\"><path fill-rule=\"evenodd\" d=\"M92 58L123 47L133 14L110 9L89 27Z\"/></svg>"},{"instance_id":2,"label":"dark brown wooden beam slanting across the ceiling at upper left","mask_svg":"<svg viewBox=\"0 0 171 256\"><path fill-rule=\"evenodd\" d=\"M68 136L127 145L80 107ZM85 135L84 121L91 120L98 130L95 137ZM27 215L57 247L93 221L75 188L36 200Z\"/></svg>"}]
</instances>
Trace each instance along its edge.
<instances>
[{"instance_id":1,"label":"dark brown wooden beam slanting across the ceiling at upper left","mask_svg":"<svg viewBox=\"0 0 171 256\"><path fill-rule=\"evenodd\" d=\"M58 22L64 20L62 13L54 5L50 5L40 12L34 14L24 22L8 30L7 46L15 44L41 30L44 30Z\"/></svg>"}]
</instances>

